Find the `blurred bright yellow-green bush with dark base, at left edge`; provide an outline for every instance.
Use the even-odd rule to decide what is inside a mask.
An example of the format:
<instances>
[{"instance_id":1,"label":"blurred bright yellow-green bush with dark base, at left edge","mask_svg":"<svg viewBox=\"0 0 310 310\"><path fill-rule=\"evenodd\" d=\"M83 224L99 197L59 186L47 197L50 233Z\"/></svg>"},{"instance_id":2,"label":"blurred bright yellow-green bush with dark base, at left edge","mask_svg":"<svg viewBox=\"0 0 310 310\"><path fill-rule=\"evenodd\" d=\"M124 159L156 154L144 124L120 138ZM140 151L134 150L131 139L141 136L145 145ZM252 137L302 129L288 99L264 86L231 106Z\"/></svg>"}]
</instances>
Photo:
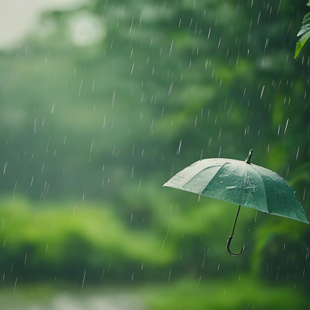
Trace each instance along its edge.
<instances>
[{"instance_id":1,"label":"blurred bright yellow-green bush with dark base, at left edge","mask_svg":"<svg viewBox=\"0 0 310 310\"><path fill-rule=\"evenodd\" d=\"M173 258L152 232L130 231L107 205L36 206L14 199L0 203L0 218L0 272L6 279L77 280L86 269L95 281L129 280L142 263L155 268Z\"/></svg>"}]
</instances>

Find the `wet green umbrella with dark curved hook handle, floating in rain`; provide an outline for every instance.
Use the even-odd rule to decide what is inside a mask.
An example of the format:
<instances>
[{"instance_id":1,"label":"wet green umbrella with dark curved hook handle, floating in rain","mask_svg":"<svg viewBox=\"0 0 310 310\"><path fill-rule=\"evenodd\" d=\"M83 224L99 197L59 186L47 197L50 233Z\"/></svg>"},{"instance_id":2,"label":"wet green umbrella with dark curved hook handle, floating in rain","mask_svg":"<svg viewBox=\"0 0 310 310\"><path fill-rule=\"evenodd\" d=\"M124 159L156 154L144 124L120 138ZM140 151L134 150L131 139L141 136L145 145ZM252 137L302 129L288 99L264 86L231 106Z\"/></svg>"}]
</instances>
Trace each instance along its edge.
<instances>
[{"instance_id":1,"label":"wet green umbrella with dark curved hook handle, floating in rain","mask_svg":"<svg viewBox=\"0 0 310 310\"><path fill-rule=\"evenodd\" d=\"M240 206L308 223L305 211L293 190L275 172L251 163L252 150L245 161L209 158L196 161L172 177L163 186L178 188L199 195L239 205L235 223L227 241L233 238Z\"/></svg>"}]
</instances>

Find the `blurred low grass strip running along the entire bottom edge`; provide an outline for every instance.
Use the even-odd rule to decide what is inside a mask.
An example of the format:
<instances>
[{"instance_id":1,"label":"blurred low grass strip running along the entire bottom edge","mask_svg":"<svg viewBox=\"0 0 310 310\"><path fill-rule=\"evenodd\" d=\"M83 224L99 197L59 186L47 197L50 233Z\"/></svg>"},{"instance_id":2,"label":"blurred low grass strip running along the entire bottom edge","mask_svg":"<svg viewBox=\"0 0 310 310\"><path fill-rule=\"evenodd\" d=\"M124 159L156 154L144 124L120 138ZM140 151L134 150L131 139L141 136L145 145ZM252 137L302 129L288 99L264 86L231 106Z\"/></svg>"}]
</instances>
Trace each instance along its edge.
<instances>
[{"instance_id":1,"label":"blurred low grass strip running along the entire bottom edge","mask_svg":"<svg viewBox=\"0 0 310 310\"><path fill-rule=\"evenodd\" d=\"M87 309L93 300L101 301L99 304L102 303L102 307L108 300L115 305L113 309L122 310L133 309L133 305L137 305L139 310L305 310L309 302L294 287L270 285L245 275L235 279L212 278L203 281L183 278L166 283L150 282L143 286L135 283L127 286L86 284L82 291L76 284L60 282L17 283L15 290L7 286L0 289L1 308L6 310L33 307L56 310L54 301L61 296L66 297L69 309L75 309L76 301ZM117 308L120 300L128 304Z\"/></svg>"}]
</instances>

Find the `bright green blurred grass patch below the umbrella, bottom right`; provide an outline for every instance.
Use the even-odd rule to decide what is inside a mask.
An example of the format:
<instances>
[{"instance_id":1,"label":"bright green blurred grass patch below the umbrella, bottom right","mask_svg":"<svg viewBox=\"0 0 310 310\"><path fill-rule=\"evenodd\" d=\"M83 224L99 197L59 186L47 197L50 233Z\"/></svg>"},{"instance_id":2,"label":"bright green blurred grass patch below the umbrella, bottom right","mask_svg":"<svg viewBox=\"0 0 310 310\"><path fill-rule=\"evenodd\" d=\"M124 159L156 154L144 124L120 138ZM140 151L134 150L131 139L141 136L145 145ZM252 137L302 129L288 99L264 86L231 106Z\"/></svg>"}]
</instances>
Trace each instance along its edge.
<instances>
[{"instance_id":1,"label":"bright green blurred grass patch below the umbrella, bottom right","mask_svg":"<svg viewBox=\"0 0 310 310\"><path fill-rule=\"evenodd\" d=\"M241 279L183 279L143 290L148 310L304 310L307 300L294 287Z\"/></svg>"}]
</instances>

